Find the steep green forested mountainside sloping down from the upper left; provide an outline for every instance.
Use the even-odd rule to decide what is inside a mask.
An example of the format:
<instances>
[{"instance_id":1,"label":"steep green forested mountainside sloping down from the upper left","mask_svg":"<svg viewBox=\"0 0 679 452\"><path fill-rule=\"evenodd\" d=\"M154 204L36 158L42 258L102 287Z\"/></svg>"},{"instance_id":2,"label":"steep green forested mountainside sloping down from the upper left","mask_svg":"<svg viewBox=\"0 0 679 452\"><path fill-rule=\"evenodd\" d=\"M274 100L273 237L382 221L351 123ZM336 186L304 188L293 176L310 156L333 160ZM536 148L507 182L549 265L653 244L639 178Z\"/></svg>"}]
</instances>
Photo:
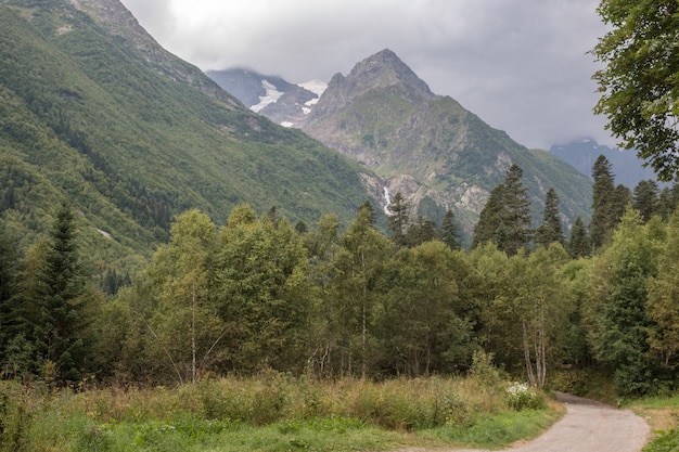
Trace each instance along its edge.
<instances>
[{"instance_id":1,"label":"steep green forested mountainside sloping down from the upper left","mask_svg":"<svg viewBox=\"0 0 679 452\"><path fill-rule=\"evenodd\" d=\"M192 207L217 224L245 202L315 223L366 202L358 164L90 15L97 3L0 1L0 215L24 244L63 198L101 263L128 268Z\"/></svg>"}]
</instances>

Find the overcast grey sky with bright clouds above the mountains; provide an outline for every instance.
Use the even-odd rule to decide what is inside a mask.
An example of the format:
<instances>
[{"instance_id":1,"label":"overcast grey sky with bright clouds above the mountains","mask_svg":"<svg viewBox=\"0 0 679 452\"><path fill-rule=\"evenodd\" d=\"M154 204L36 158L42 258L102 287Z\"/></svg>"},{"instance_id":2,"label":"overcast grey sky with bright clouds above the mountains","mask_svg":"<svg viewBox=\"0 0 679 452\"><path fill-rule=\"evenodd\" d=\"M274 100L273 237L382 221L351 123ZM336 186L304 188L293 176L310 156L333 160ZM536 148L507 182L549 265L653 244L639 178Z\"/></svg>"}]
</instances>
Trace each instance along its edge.
<instances>
[{"instance_id":1,"label":"overcast grey sky with bright clouds above the mountains","mask_svg":"<svg viewBox=\"0 0 679 452\"><path fill-rule=\"evenodd\" d=\"M614 144L587 52L598 0L121 0L170 52L207 69L248 67L329 81L388 48L528 147L585 137Z\"/></svg>"}]
</instances>

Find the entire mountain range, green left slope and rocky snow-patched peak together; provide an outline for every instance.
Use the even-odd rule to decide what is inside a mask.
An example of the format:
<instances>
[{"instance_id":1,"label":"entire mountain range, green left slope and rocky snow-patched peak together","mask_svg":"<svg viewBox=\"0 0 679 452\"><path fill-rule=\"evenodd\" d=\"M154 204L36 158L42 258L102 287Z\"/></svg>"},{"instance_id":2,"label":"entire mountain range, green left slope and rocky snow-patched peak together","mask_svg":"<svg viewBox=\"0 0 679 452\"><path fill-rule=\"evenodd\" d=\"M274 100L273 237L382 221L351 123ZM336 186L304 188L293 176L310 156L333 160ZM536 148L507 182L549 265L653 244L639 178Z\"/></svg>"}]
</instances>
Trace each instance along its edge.
<instances>
[{"instance_id":1,"label":"entire mountain range, green left slope and rocky snow-patched peak together","mask_svg":"<svg viewBox=\"0 0 679 452\"><path fill-rule=\"evenodd\" d=\"M101 271L139 268L187 209L223 224L242 203L346 224L401 192L413 216L453 210L469 236L513 163L536 221L550 186L565 225L589 218L586 176L433 93L387 49L328 85L295 85L247 69L208 77L119 0L0 0L0 218L24 247L62 199Z\"/></svg>"}]
</instances>

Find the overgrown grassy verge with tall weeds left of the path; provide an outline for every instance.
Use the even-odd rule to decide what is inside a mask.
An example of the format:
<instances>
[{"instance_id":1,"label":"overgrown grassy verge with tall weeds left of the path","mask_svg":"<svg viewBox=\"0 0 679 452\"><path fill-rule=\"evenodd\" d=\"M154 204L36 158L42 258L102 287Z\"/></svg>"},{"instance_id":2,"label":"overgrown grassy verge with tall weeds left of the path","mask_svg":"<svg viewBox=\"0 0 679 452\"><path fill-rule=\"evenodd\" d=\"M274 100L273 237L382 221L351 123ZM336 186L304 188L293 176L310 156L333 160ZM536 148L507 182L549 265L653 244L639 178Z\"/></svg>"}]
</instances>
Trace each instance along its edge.
<instances>
[{"instance_id":1,"label":"overgrown grassy verge with tall weeds left of the path","mask_svg":"<svg viewBox=\"0 0 679 452\"><path fill-rule=\"evenodd\" d=\"M497 449L561 413L487 378L313 382L271 374L81 393L0 382L0 451Z\"/></svg>"}]
</instances>

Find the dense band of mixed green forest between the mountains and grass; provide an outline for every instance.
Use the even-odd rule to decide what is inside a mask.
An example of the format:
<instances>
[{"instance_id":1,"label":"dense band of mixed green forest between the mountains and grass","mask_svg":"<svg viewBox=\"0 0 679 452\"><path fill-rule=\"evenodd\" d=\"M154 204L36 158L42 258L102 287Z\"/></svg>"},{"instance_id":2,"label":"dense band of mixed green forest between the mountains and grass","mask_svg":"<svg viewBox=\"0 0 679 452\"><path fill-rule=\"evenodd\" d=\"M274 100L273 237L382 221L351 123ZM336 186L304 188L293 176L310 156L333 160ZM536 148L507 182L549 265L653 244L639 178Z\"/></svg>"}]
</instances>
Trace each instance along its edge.
<instances>
[{"instance_id":1,"label":"dense band of mixed green forest between the mountains and grass","mask_svg":"<svg viewBox=\"0 0 679 452\"><path fill-rule=\"evenodd\" d=\"M417 377L463 373L483 350L537 386L554 370L601 369L623 395L667 388L679 190L615 186L604 157L592 176L591 222L568 237L552 190L531 228L513 165L469 250L451 212L412 218L398 194L386 231L368 203L348 224L328 214L313 228L243 204L222 225L198 209L176 217L133 277L91 277L68 202L28 249L0 222L2 376L76 387L262 370Z\"/></svg>"}]
</instances>

